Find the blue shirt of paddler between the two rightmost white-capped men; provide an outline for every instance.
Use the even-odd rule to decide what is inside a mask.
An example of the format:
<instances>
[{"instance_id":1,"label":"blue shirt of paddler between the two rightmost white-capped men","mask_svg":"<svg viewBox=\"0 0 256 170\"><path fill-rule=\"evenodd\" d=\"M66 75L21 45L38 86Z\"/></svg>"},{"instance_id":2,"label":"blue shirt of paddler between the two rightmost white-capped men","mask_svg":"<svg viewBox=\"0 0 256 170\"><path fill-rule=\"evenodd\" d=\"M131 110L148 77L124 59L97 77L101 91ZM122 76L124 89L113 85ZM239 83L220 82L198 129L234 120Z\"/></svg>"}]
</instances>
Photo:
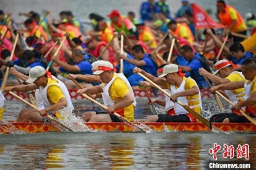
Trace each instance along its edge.
<instances>
[{"instance_id":1,"label":"blue shirt of paddler between the two rightmost white-capped men","mask_svg":"<svg viewBox=\"0 0 256 170\"><path fill-rule=\"evenodd\" d=\"M201 61L198 60L200 58L201 58L201 55L199 53L196 53L194 59L192 59L192 61L190 61L190 63L188 64L188 67L192 69L190 71L190 74L196 76L196 78L192 77L195 79L196 83L201 87L208 87L206 81L204 80L204 77L200 75L198 71L199 68L203 67Z\"/></svg>"}]
</instances>

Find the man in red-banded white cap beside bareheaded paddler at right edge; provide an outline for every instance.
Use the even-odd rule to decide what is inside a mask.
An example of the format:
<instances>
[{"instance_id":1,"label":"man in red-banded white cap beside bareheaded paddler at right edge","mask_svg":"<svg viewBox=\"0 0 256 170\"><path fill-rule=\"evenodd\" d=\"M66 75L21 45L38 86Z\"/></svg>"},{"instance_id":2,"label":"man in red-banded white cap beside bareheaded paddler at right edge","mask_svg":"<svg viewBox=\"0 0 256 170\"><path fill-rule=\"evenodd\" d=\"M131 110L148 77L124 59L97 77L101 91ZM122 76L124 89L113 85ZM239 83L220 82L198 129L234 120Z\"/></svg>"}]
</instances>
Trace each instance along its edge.
<instances>
[{"instance_id":1,"label":"man in red-banded white cap beside bareheaded paddler at right edge","mask_svg":"<svg viewBox=\"0 0 256 170\"><path fill-rule=\"evenodd\" d=\"M199 69L200 75L206 76L208 79L210 79L215 85L221 85L225 83L230 83L234 81L246 81L244 78L244 75L242 75L242 72L235 71L234 68L237 68L238 66L233 64L232 61L228 61L226 59L222 59L215 63L214 65L216 71L214 74L209 73L203 68ZM219 74L219 76L216 76L216 74ZM215 88L215 87L214 87ZM214 89L213 88L213 89ZM221 93L224 93L220 91ZM225 89L225 94L232 103L235 105L237 103L240 103L244 100L244 88L234 89L234 90L227 90ZM236 111L235 109L232 109L232 113L220 113L217 115L213 115L210 118L210 121L217 121L219 122L221 117L222 120L224 116L233 116L234 114L240 115L241 113L239 111Z\"/></svg>"}]
</instances>

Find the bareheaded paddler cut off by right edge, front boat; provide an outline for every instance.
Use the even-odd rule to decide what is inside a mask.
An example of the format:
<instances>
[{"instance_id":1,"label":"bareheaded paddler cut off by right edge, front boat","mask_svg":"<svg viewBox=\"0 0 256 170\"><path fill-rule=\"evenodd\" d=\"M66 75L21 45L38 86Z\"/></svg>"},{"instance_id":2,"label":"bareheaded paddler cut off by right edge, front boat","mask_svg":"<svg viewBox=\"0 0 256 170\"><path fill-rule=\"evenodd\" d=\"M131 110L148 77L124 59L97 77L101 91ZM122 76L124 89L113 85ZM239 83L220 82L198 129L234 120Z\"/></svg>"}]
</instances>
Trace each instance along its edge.
<instances>
[{"instance_id":1,"label":"bareheaded paddler cut off by right edge, front boat","mask_svg":"<svg viewBox=\"0 0 256 170\"><path fill-rule=\"evenodd\" d=\"M239 103L236 103L234 106L234 109L236 111L239 111L239 109L244 109L245 107L245 113L248 114L250 117L255 118L256 117L256 63L253 59L246 59L242 63L241 66L242 74L244 75L244 78L246 79L246 82L244 80L242 81L234 81L226 84L221 84L217 86L213 86L210 91L216 91L216 90L235 90L244 88L244 101L241 101ZM244 116L242 116L239 113L232 114L232 115L226 115L223 117L218 118L215 120L215 122L223 122L223 123L229 123L229 122L249 122Z\"/></svg>"}]
</instances>

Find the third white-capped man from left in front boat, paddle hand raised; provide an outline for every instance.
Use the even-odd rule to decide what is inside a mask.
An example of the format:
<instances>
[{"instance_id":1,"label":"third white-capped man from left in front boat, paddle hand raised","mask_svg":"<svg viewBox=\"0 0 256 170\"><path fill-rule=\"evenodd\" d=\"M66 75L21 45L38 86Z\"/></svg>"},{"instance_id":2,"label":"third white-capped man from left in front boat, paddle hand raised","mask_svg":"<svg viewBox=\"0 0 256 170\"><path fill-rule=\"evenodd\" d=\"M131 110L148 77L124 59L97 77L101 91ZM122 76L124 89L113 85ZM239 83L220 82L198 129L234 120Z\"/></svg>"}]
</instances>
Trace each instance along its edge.
<instances>
[{"instance_id":1,"label":"third white-capped man from left in front boat, paddle hand raised","mask_svg":"<svg viewBox=\"0 0 256 170\"><path fill-rule=\"evenodd\" d=\"M181 72L181 69L178 69L178 65L164 66L163 73L158 78L137 67L134 68L134 73L142 73L162 88L169 89L171 101L175 102L177 99L200 114L202 101L198 85L194 79L184 77L185 74ZM165 77L165 80L162 77ZM196 122L196 118L176 102L174 103L174 113L175 115L158 116L156 122Z\"/></svg>"}]
</instances>

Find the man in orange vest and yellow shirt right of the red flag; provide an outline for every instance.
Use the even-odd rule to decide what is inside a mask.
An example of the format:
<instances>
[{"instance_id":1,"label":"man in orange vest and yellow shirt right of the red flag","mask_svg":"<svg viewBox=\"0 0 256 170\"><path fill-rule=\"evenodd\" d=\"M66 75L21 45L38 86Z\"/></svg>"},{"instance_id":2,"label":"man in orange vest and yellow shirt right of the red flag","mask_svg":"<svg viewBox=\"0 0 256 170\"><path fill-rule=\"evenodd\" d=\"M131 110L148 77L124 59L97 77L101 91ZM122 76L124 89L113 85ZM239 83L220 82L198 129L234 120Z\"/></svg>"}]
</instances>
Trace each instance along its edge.
<instances>
[{"instance_id":1,"label":"man in orange vest and yellow shirt right of the red flag","mask_svg":"<svg viewBox=\"0 0 256 170\"><path fill-rule=\"evenodd\" d=\"M226 32L235 32L246 35L247 27L242 16L238 11L225 3L224 0L217 1L218 16L221 24L228 27ZM234 42L241 42L244 38L234 36Z\"/></svg>"}]
</instances>

